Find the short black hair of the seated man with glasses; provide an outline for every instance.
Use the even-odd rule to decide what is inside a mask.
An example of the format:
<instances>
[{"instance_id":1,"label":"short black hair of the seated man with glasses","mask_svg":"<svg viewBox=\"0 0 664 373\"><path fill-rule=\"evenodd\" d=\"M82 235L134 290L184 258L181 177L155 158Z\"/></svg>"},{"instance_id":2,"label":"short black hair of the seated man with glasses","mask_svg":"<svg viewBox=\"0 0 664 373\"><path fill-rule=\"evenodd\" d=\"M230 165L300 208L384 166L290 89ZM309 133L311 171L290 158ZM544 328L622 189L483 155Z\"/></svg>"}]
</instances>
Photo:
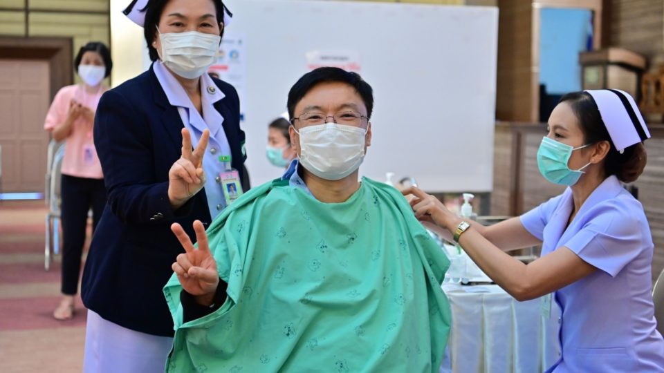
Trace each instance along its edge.
<instances>
[{"instance_id":1,"label":"short black hair of the seated man with glasses","mask_svg":"<svg viewBox=\"0 0 664 373\"><path fill-rule=\"evenodd\" d=\"M328 82L341 82L353 86L358 95L362 97L365 106L367 106L367 117L371 118L371 111L374 110L374 90L369 86L369 83L362 80L358 73L351 73L335 67L317 68L302 75L297 80L291 91L288 92L288 103L286 104L288 106L288 116L291 118L295 116L295 106L309 90L317 84Z\"/></svg>"}]
</instances>

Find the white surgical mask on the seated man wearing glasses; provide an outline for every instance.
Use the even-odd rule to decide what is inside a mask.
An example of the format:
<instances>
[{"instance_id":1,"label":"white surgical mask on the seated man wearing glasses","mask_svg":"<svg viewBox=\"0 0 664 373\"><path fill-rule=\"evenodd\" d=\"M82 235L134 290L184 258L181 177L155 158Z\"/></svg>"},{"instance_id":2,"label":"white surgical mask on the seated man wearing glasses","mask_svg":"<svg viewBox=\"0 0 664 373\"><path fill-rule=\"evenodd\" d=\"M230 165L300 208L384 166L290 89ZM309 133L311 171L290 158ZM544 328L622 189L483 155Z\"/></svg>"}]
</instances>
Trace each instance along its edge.
<instances>
[{"instance_id":1,"label":"white surgical mask on the seated man wearing glasses","mask_svg":"<svg viewBox=\"0 0 664 373\"><path fill-rule=\"evenodd\" d=\"M325 180L341 180L356 171L365 159L363 128L326 123L300 128L299 162Z\"/></svg>"}]
</instances>

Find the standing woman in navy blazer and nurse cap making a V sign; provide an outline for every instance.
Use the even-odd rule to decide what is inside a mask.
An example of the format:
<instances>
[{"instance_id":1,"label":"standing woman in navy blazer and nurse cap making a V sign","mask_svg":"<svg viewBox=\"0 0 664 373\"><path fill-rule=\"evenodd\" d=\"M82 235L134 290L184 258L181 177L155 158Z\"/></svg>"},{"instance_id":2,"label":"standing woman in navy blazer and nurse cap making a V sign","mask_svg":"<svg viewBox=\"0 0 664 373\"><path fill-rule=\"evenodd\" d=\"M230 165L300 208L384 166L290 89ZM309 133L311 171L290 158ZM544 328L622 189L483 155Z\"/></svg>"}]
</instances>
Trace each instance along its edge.
<instances>
[{"instance_id":1,"label":"standing woman in navy blazer and nurse cap making a V sign","mask_svg":"<svg viewBox=\"0 0 664 373\"><path fill-rule=\"evenodd\" d=\"M230 155L232 169L246 180L245 135L239 126L236 90L207 74L185 79L174 73L178 66L162 58L169 52L163 43L165 35L186 31L207 35L203 37L220 35L223 4L220 0L138 3L145 4L140 10L149 6L145 35L155 62L147 72L105 93L95 118L94 140L108 203L82 280L83 302L91 311L84 370L91 372L163 372L173 321L162 289L172 274L172 263L183 252L170 226L178 222L194 240L194 220L210 224L219 213L211 211L211 206L219 209L220 205L208 198L215 193L218 197L219 191L212 191L215 175L203 172L210 165L205 165L203 157L216 162L219 155ZM131 6L135 5L133 1ZM201 21L210 12L219 21ZM208 28L209 24L218 27ZM192 87L198 89L193 97L192 90L187 90ZM182 97L188 104L173 104ZM210 118L223 122L219 126L219 120L212 123ZM201 124L207 128L196 136L196 125ZM226 144L217 147L219 151L212 147L215 126L219 143ZM192 137L198 140L193 152ZM222 149L230 154L222 154ZM151 359L148 365L140 363ZM119 363L126 366L119 369Z\"/></svg>"}]
</instances>

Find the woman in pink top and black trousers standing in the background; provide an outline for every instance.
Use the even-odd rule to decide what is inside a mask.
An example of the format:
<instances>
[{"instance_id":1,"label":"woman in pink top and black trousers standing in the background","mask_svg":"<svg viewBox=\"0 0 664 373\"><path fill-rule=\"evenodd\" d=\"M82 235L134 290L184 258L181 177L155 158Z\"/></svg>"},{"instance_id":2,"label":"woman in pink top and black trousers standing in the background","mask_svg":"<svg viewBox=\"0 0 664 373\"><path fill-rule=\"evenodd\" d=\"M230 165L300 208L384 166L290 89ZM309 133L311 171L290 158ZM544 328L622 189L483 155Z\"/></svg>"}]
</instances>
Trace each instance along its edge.
<instances>
[{"instance_id":1,"label":"woman in pink top and black trousers standing in the background","mask_svg":"<svg viewBox=\"0 0 664 373\"><path fill-rule=\"evenodd\" d=\"M74 64L83 83L60 89L44 122L53 139L66 142L61 188L63 298L53 312L58 320L68 320L74 314L88 211L92 208L94 230L106 204L92 128L97 104L107 90L102 80L113 67L111 53L104 44L90 42L78 51Z\"/></svg>"}]
</instances>

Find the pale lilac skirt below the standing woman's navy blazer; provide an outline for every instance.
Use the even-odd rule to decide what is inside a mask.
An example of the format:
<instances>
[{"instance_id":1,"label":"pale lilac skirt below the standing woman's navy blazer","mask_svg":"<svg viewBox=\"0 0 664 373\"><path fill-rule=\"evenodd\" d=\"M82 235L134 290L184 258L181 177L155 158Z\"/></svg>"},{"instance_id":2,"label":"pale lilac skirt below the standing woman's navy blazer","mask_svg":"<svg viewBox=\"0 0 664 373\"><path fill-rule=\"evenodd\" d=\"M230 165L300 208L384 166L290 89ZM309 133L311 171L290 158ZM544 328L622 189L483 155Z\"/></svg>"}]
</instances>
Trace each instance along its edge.
<instances>
[{"instance_id":1,"label":"pale lilac skirt below the standing woman's navy blazer","mask_svg":"<svg viewBox=\"0 0 664 373\"><path fill-rule=\"evenodd\" d=\"M84 373L163 373L173 338L121 327L88 310Z\"/></svg>"}]
</instances>

